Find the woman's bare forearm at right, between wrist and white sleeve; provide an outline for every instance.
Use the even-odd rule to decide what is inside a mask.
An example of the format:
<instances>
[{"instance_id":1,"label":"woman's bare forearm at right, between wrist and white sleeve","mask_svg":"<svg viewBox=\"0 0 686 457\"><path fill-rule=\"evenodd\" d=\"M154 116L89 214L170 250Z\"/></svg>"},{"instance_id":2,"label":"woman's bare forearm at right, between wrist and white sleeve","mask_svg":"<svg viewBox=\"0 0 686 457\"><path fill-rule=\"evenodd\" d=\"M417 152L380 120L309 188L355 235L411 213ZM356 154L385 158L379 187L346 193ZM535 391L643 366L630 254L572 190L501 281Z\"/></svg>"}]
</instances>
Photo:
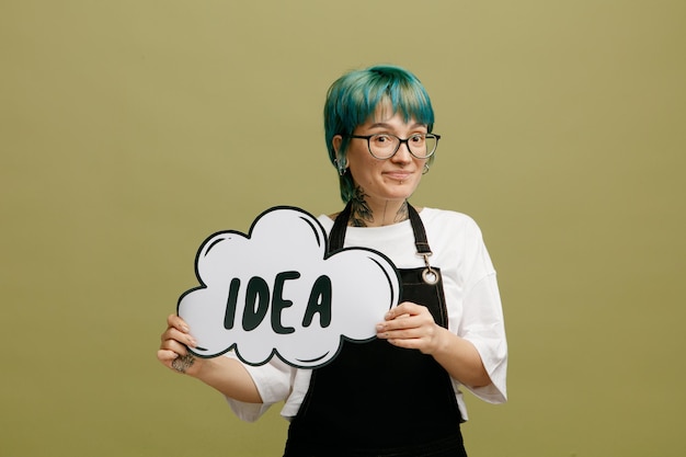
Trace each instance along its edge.
<instances>
[{"instance_id":1,"label":"woman's bare forearm at right, between wrist and white sleeve","mask_svg":"<svg viewBox=\"0 0 686 457\"><path fill-rule=\"evenodd\" d=\"M464 385L483 387L491 384L477 347L447 329L438 327L438 338L431 355Z\"/></svg>"}]
</instances>

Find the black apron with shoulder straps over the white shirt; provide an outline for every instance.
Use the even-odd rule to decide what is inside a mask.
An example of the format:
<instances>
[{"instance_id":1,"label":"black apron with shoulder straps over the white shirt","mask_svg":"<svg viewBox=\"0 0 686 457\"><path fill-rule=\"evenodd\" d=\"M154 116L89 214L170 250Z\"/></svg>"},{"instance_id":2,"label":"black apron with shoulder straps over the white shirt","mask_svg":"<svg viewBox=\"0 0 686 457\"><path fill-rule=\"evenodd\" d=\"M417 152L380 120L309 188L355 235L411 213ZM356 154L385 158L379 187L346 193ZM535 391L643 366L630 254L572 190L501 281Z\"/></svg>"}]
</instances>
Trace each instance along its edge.
<instances>
[{"instance_id":1,"label":"black apron with shoulder straps over the white shirt","mask_svg":"<svg viewBox=\"0 0 686 457\"><path fill-rule=\"evenodd\" d=\"M447 328L441 272L428 265L431 250L419 214L409 204L408 209L426 267L399 270L401 302L426 306ZM336 217L330 253L343 249L350 214L348 204ZM427 284L432 279L435 284ZM331 363L312 370L284 457L467 456L460 422L449 375L431 355L379 339L345 341Z\"/></svg>"}]
</instances>

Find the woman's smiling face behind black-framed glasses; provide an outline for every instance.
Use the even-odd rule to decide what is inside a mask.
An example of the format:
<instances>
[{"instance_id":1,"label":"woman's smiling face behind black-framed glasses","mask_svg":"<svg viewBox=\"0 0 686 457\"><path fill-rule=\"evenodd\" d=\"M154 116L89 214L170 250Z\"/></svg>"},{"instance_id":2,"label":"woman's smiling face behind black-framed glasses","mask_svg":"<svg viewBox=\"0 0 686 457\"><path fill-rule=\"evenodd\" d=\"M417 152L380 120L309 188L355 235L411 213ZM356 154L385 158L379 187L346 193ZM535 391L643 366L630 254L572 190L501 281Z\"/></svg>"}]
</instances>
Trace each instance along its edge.
<instances>
[{"instance_id":1,"label":"woman's smiling face behind black-framed glasses","mask_svg":"<svg viewBox=\"0 0 686 457\"><path fill-rule=\"evenodd\" d=\"M412 134L426 134L425 124L414 119L405 122L402 114L390 113L382 107L374 118L357 126L353 135L392 134L409 138ZM341 136L334 137L334 148L341 144ZM386 204L389 201L404 201L416 190L422 179L427 159L418 159L402 144L396 155L379 160L369 153L366 139L351 138L347 146L347 164L356 186L362 187L367 203Z\"/></svg>"}]
</instances>

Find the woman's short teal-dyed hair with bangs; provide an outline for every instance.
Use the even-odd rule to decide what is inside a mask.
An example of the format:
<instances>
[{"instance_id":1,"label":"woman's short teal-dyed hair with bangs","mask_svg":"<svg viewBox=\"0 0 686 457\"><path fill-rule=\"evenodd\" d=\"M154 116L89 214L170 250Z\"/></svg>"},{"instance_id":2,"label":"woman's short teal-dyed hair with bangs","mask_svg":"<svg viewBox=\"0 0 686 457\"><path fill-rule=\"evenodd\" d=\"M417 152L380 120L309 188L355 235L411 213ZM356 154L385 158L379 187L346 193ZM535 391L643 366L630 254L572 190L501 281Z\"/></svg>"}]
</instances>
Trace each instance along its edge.
<instances>
[{"instance_id":1,"label":"woman's short teal-dyed hair with bangs","mask_svg":"<svg viewBox=\"0 0 686 457\"><path fill-rule=\"evenodd\" d=\"M430 133L434 127L434 110L428 93L410 71L395 66L351 71L331 84L324 104L324 135L329 159L334 167L333 137L343 136L339 160L345 164L350 142L347 135L374 116L379 103L389 103L392 113L401 113L405 122L413 118L426 124ZM433 161L433 156L428 160ZM355 192L350 171L340 176L340 186L341 198L344 203L350 202Z\"/></svg>"}]
</instances>

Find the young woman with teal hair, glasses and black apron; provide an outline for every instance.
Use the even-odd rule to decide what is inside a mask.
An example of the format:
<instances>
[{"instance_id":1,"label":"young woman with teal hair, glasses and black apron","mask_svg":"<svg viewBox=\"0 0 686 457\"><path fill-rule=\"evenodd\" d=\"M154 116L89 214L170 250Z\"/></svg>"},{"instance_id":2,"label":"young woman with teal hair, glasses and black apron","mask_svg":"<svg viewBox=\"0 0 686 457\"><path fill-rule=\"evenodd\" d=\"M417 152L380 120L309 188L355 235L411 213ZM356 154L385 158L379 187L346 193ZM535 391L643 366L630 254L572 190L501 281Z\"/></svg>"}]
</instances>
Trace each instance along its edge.
<instances>
[{"instance_id":1,"label":"young woman with teal hair, glasses and black apron","mask_svg":"<svg viewBox=\"0 0 686 457\"><path fill-rule=\"evenodd\" d=\"M503 313L481 232L466 215L408 202L438 146L433 125L428 94L402 68L352 71L327 95L327 147L345 203L319 217L329 250L382 252L402 278L401 302L376 340L344 343L313 370L278 359L253 367L230 354L193 357L192 329L168 318L158 351L164 365L222 392L243 420L285 400L287 457L466 456L460 386L506 400Z\"/></svg>"}]
</instances>

